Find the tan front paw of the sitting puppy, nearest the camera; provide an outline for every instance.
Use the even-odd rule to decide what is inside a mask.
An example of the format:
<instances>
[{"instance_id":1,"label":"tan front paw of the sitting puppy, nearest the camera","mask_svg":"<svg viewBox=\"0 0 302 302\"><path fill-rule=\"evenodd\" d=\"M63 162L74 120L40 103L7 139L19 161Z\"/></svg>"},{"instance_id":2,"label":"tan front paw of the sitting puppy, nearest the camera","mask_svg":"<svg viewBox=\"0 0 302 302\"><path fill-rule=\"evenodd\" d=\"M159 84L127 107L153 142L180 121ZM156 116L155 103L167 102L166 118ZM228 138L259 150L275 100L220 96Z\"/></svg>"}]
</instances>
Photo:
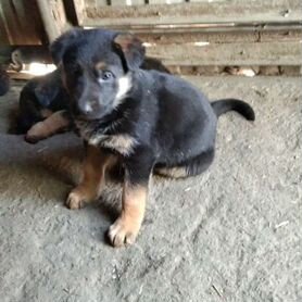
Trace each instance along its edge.
<instances>
[{"instance_id":1,"label":"tan front paw of the sitting puppy, nearest the camera","mask_svg":"<svg viewBox=\"0 0 302 302\"><path fill-rule=\"evenodd\" d=\"M109 239L113 247L123 247L124 244L133 244L139 232L140 224L123 219L119 217L109 228Z\"/></svg>"}]
</instances>

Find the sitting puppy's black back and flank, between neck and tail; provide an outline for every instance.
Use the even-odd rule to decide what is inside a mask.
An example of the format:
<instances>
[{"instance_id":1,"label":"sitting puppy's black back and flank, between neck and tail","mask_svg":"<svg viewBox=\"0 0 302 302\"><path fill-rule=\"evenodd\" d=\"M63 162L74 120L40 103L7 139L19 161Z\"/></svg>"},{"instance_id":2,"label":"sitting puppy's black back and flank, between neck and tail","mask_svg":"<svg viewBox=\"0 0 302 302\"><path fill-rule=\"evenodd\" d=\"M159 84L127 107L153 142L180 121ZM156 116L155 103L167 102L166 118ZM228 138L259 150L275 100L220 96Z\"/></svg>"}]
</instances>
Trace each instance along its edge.
<instances>
[{"instance_id":1,"label":"sitting puppy's black back and flank, between neck and tail","mask_svg":"<svg viewBox=\"0 0 302 302\"><path fill-rule=\"evenodd\" d=\"M217 117L207 98L177 76L155 71L143 72L156 103L155 133L164 161L171 154L196 156L214 147ZM143 84L142 84L143 85ZM148 91L148 89L147 89ZM175 152L181 150L181 152ZM183 155L181 155L183 156ZM173 159L171 159L173 160ZM178 161L178 159L175 159Z\"/></svg>"}]
</instances>

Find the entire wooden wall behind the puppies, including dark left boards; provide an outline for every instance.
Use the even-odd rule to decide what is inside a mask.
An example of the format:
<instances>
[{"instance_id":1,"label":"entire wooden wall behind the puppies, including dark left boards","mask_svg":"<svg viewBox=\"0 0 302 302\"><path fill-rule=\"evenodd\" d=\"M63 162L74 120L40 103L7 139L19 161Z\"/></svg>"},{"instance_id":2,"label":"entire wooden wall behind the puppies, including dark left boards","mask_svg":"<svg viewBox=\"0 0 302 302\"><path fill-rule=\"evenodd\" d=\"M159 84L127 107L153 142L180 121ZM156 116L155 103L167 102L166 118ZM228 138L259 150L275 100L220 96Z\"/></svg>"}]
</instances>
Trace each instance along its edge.
<instances>
[{"instance_id":1,"label":"entire wooden wall behind the puppies, including dark left boards","mask_svg":"<svg viewBox=\"0 0 302 302\"><path fill-rule=\"evenodd\" d=\"M70 24L136 33L177 74L299 75L301 16L300 0L2 0L0 62L12 77L51 63L47 46Z\"/></svg>"}]
</instances>

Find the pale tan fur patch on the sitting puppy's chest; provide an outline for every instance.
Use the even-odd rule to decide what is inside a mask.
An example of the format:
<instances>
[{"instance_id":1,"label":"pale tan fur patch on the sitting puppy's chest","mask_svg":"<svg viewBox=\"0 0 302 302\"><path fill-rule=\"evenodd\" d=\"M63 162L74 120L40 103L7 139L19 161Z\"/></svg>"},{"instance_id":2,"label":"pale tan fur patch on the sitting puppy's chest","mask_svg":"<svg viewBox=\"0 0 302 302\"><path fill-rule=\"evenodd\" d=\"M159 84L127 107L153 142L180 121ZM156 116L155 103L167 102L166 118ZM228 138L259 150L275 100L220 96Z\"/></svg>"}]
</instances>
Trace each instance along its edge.
<instances>
[{"instance_id":1,"label":"pale tan fur patch on the sitting puppy's chest","mask_svg":"<svg viewBox=\"0 0 302 302\"><path fill-rule=\"evenodd\" d=\"M89 142L93 146L100 144L109 149L114 149L123 155L130 154L136 144L135 138L129 135L101 135L92 137Z\"/></svg>"}]
</instances>

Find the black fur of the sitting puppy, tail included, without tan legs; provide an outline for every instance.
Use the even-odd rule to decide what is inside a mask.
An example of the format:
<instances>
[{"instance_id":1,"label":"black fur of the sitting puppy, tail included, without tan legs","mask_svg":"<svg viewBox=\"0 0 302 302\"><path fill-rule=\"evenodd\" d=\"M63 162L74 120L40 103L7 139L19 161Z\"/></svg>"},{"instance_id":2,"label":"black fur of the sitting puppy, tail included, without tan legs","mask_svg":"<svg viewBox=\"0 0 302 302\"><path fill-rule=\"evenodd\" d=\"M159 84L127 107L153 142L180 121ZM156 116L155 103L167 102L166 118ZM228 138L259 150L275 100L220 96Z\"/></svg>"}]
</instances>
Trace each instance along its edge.
<instances>
[{"instance_id":1,"label":"black fur of the sitting puppy, tail included, without tan legs","mask_svg":"<svg viewBox=\"0 0 302 302\"><path fill-rule=\"evenodd\" d=\"M184 176L205 171L214 158L217 116L235 110L254 119L252 108L242 101L211 105L188 81L138 68L144 51L128 34L90 29L70 35L59 38L52 52L64 66L73 117L88 143L122 156L134 185L147 184L154 168L178 167ZM105 67L98 70L98 62ZM131 86L118 99L123 77ZM111 143L117 135L133 139L128 152Z\"/></svg>"}]
</instances>

